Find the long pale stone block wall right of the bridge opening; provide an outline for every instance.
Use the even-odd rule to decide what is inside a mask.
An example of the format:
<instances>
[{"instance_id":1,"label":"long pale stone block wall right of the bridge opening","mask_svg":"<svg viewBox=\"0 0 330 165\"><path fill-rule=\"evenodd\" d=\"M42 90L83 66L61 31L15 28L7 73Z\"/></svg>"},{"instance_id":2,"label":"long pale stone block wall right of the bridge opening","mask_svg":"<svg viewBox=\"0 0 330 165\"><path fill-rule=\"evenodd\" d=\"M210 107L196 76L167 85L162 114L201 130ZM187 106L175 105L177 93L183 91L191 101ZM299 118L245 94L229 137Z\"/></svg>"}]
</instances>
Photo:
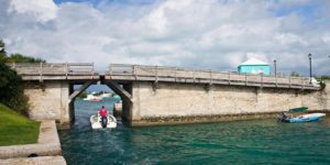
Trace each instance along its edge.
<instances>
[{"instance_id":1,"label":"long pale stone block wall right of the bridge opening","mask_svg":"<svg viewBox=\"0 0 330 165\"><path fill-rule=\"evenodd\" d=\"M329 92L329 89L327 89ZM307 106L329 110L320 91L191 84L133 84L132 119L274 113Z\"/></svg>"}]
</instances>

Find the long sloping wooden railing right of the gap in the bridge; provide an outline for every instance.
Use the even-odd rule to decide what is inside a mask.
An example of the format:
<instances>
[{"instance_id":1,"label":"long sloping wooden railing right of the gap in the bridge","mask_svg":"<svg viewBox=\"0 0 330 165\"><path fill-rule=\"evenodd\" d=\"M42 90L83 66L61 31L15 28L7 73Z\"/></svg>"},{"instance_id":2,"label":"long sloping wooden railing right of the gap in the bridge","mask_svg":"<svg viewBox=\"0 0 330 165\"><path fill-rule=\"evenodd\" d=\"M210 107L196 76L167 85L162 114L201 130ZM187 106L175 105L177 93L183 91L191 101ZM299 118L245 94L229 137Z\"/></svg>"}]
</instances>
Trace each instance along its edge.
<instances>
[{"instance_id":1,"label":"long sloping wooden railing right of the gap in the bridge","mask_svg":"<svg viewBox=\"0 0 330 165\"><path fill-rule=\"evenodd\" d=\"M180 67L143 66L111 64L110 76L133 76L136 80L166 80L186 82L208 82L224 85L245 85L261 87L312 88L318 89L317 81L310 84L309 77L249 75L237 72L217 72L206 69L188 69Z\"/></svg>"}]
</instances>

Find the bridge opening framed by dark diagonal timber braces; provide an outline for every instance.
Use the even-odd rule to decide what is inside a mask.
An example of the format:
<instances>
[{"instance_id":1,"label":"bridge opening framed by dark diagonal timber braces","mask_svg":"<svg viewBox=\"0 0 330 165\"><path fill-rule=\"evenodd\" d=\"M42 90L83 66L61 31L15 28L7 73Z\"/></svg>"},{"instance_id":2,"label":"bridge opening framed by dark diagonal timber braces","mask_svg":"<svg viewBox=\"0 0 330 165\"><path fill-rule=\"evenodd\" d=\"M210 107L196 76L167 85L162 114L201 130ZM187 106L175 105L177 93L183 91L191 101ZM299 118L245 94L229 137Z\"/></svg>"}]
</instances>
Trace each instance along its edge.
<instances>
[{"instance_id":1,"label":"bridge opening framed by dark diagonal timber braces","mask_svg":"<svg viewBox=\"0 0 330 165\"><path fill-rule=\"evenodd\" d=\"M90 107L89 112L85 116L90 116L91 112L95 114L105 106L109 112L117 118L121 118L122 121L125 122L130 119L130 107L132 106L131 82L118 82L100 78L98 81L74 81L69 86L68 116L70 123L75 123L77 107L81 108L80 105L77 106L77 102L81 103L81 101L84 101L82 105ZM79 99L77 100L77 98ZM86 120L86 117L84 118Z\"/></svg>"}]
</instances>

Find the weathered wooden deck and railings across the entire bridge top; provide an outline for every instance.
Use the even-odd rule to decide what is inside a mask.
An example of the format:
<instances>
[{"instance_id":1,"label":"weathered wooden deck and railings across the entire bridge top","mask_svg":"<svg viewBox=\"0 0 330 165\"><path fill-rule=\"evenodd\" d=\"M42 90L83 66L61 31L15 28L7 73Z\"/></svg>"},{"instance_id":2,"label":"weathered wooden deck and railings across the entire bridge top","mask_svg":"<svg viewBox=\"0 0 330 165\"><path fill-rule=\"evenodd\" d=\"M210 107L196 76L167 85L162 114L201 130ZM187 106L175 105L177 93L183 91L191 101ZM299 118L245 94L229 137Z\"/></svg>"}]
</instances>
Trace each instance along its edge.
<instances>
[{"instance_id":1,"label":"weathered wooden deck and railings across the entire bridge top","mask_svg":"<svg viewBox=\"0 0 330 165\"><path fill-rule=\"evenodd\" d=\"M118 82L154 81L207 85L250 86L262 88L290 88L319 90L319 84L310 84L308 77L264 76L187 69L180 67L112 64L105 75L95 70L92 63L40 63L10 64L23 80L113 80Z\"/></svg>"}]
</instances>

